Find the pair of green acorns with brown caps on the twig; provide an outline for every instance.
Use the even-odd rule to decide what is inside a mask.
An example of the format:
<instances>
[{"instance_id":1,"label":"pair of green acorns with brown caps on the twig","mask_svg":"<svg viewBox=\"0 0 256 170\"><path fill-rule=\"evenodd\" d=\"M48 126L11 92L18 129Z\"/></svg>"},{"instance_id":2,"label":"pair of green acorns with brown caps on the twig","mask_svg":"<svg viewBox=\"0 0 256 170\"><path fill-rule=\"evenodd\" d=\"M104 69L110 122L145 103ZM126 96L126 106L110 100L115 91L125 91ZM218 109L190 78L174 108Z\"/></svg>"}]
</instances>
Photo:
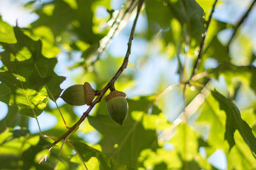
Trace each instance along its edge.
<instances>
[{"instance_id":1,"label":"pair of green acorns with brown caps on the twig","mask_svg":"<svg viewBox=\"0 0 256 170\"><path fill-rule=\"evenodd\" d=\"M82 106L92 104L95 97L95 90L90 83L85 82L84 85L72 85L68 87L61 98L68 104L73 106ZM128 103L126 94L117 90L111 91L106 96L107 110L109 116L118 124L122 125L128 113Z\"/></svg>"}]
</instances>

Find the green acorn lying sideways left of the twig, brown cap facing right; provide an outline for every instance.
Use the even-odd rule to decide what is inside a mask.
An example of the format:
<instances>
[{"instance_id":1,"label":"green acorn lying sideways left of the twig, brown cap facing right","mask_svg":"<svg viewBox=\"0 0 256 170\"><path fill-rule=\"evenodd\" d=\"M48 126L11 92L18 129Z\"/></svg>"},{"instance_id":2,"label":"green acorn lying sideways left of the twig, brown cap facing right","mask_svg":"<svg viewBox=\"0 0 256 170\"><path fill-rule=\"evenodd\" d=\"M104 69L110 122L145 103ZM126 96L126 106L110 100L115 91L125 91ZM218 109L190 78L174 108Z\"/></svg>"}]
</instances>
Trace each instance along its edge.
<instances>
[{"instance_id":1,"label":"green acorn lying sideways left of the twig, brown cap facing right","mask_svg":"<svg viewBox=\"0 0 256 170\"><path fill-rule=\"evenodd\" d=\"M73 106L82 106L92 103L95 96L95 90L92 89L90 83L85 82L84 85L72 85L66 89L61 98L68 104Z\"/></svg>"}]
</instances>

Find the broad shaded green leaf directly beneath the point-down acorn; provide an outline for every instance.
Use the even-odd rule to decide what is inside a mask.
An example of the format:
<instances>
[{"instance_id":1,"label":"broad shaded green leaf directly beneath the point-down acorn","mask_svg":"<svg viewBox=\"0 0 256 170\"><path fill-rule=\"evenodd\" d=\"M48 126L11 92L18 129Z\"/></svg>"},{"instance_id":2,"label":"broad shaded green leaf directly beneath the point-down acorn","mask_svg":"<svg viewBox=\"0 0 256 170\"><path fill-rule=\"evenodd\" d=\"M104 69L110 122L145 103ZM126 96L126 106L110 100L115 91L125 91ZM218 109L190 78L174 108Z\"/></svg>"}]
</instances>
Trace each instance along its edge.
<instances>
[{"instance_id":1,"label":"broad shaded green leaf directly beneath the point-down acorn","mask_svg":"<svg viewBox=\"0 0 256 170\"><path fill-rule=\"evenodd\" d=\"M100 141L102 152L134 169L138 167L141 150L151 148L157 140L156 132L145 130L141 122L134 120L120 126L109 116L97 115L88 117L88 121L104 136Z\"/></svg>"}]
</instances>

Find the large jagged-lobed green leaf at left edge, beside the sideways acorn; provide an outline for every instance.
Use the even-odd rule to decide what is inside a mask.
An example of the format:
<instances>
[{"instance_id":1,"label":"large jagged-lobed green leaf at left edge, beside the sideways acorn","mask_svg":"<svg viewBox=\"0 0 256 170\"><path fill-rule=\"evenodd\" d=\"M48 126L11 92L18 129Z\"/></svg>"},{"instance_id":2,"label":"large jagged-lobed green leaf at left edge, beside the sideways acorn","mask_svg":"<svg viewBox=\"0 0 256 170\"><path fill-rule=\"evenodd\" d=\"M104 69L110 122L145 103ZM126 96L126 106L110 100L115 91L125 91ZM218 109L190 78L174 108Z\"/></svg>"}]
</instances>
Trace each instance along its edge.
<instances>
[{"instance_id":1,"label":"large jagged-lobed green leaf at left edge, beside the sideways acorn","mask_svg":"<svg viewBox=\"0 0 256 170\"><path fill-rule=\"evenodd\" d=\"M19 27L14 27L17 43L0 42L4 64L0 72L0 101L18 105L22 115L40 115L47 104L47 97L56 100L61 93L60 83L64 77L54 73L56 58L42 55L41 41L33 41Z\"/></svg>"}]
</instances>

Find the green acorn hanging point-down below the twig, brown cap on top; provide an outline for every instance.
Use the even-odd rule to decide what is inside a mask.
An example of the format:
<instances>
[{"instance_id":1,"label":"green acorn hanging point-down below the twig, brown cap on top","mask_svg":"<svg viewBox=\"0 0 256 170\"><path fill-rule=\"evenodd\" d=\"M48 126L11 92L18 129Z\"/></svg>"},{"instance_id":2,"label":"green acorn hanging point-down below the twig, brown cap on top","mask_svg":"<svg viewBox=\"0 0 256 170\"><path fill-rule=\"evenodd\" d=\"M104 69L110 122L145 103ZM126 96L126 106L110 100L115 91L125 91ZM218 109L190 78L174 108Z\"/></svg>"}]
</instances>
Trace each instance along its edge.
<instances>
[{"instance_id":1,"label":"green acorn hanging point-down below the twig, brown cap on top","mask_svg":"<svg viewBox=\"0 0 256 170\"><path fill-rule=\"evenodd\" d=\"M107 110L109 116L118 124L122 125L128 113L126 94L114 90L106 96Z\"/></svg>"}]
</instances>

